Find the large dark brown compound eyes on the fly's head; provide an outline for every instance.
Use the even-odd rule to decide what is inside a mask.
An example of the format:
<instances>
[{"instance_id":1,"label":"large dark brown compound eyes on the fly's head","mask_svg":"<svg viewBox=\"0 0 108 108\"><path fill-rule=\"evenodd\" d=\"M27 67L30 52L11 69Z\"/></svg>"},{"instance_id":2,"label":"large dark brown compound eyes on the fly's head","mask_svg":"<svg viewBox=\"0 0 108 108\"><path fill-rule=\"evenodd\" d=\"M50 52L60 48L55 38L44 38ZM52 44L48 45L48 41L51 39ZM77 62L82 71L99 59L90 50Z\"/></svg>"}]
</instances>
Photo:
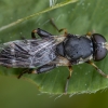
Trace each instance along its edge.
<instances>
[{"instance_id":1,"label":"large dark brown compound eyes on the fly's head","mask_svg":"<svg viewBox=\"0 0 108 108\"><path fill-rule=\"evenodd\" d=\"M107 49L104 48L104 43L106 42L106 39L98 33L93 33L93 49L94 49L94 54L93 54L93 59L98 62L102 60L104 57L107 55Z\"/></svg>"}]
</instances>

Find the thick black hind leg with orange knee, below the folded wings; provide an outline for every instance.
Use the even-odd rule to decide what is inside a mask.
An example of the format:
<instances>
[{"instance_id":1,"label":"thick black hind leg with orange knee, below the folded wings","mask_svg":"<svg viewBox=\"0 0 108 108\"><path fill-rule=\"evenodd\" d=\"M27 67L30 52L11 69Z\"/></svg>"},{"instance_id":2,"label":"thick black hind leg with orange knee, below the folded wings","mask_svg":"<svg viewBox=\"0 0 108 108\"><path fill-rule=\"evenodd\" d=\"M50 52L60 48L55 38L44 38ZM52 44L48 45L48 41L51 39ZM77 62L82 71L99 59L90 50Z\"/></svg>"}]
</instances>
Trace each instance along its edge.
<instances>
[{"instance_id":1,"label":"thick black hind leg with orange knee, below the folded wings","mask_svg":"<svg viewBox=\"0 0 108 108\"><path fill-rule=\"evenodd\" d=\"M17 78L19 79L24 73L42 73L42 72L46 72L49 70L52 70L55 67L56 67L56 65L44 65L44 66L39 67L37 70L26 69Z\"/></svg>"}]
</instances>

